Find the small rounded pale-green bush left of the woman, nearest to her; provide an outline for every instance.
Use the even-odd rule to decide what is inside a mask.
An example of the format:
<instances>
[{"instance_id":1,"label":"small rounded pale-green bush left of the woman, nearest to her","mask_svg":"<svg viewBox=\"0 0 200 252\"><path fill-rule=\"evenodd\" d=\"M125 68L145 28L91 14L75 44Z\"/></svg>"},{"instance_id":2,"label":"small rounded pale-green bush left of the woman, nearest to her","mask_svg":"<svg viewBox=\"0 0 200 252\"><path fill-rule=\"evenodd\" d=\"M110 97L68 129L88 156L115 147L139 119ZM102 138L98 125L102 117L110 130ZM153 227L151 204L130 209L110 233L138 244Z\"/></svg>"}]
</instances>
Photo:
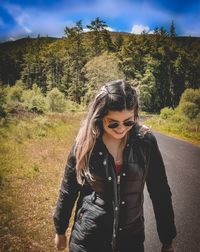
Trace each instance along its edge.
<instances>
[{"instance_id":1,"label":"small rounded pale-green bush left of the woman, nearest to her","mask_svg":"<svg viewBox=\"0 0 200 252\"><path fill-rule=\"evenodd\" d=\"M48 109L52 112L64 112L66 101L64 94L58 88L53 88L47 93Z\"/></svg>"}]
</instances>

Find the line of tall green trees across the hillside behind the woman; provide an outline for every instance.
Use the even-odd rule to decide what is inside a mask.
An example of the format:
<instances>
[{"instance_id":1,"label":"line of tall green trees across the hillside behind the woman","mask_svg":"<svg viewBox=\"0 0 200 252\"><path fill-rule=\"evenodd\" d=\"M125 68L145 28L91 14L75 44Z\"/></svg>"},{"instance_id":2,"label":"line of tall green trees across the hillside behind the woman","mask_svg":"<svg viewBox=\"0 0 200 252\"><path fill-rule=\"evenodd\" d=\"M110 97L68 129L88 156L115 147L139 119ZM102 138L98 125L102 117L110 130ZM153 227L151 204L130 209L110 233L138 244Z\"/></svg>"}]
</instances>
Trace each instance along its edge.
<instances>
[{"instance_id":1,"label":"line of tall green trees across the hillside behind the woman","mask_svg":"<svg viewBox=\"0 0 200 252\"><path fill-rule=\"evenodd\" d=\"M144 110L175 108L187 88L200 87L200 38L169 31L135 35L108 31L96 18L66 27L61 39L24 38L0 44L0 84L25 89L37 85L45 95L57 88L65 98L87 104L105 82L126 79L140 94Z\"/></svg>"}]
</instances>

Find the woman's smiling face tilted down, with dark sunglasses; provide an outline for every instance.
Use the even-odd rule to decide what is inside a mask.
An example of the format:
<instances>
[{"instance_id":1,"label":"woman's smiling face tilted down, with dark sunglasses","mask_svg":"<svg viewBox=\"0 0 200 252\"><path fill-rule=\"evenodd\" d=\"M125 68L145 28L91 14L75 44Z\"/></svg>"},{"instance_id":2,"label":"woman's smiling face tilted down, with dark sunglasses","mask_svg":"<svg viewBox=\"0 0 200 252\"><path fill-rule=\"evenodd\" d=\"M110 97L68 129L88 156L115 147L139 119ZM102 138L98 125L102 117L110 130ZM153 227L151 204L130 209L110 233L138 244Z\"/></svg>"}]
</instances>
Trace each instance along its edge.
<instances>
[{"instance_id":1,"label":"woman's smiling face tilted down, with dark sunglasses","mask_svg":"<svg viewBox=\"0 0 200 252\"><path fill-rule=\"evenodd\" d=\"M103 118L104 133L109 137L120 140L133 127L133 125L125 126L124 123L130 125L133 121L134 112L132 110L109 111ZM115 128L109 127L113 125L115 125Z\"/></svg>"}]
</instances>

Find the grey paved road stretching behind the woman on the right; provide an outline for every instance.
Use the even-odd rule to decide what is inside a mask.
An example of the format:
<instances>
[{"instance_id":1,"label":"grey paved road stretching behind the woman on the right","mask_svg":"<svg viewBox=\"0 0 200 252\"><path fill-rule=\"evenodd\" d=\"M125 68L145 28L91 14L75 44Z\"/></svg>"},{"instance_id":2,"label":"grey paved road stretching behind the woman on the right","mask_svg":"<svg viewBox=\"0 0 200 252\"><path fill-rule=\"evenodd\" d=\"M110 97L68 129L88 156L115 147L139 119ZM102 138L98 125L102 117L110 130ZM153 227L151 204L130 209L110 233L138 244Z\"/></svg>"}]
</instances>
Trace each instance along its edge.
<instances>
[{"instance_id":1,"label":"grey paved road stretching behind the woman on the right","mask_svg":"<svg viewBox=\"0 0 200 252\"><path fill-rule=\"evenodd\" d=\"M200 147L155 133L172 191L177 252L200 252ZM145 252L160 252L151 200L145 189Z\"/></svg>"}]
</instances>

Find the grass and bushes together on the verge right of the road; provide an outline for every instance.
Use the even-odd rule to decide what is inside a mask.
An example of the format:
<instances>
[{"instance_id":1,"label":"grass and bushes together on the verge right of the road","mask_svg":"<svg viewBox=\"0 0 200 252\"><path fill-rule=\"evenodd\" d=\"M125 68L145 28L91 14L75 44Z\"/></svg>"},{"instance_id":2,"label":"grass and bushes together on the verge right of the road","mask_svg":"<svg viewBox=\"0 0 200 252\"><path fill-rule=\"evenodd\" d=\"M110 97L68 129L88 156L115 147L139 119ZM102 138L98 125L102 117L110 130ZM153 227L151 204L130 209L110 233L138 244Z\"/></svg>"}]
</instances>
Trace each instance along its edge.
<instances>
[{"instance_id":1,"label":"grass and bushes together on the verge right of the road","mask_svg":"<svg viewBox=\"0 0 200 252\"><path fill-rule=\"evenodd\" d=\"M179 105L145 120L155 130L200 144L200 89L186 89Z\"/></svg>"}]
</instances>

